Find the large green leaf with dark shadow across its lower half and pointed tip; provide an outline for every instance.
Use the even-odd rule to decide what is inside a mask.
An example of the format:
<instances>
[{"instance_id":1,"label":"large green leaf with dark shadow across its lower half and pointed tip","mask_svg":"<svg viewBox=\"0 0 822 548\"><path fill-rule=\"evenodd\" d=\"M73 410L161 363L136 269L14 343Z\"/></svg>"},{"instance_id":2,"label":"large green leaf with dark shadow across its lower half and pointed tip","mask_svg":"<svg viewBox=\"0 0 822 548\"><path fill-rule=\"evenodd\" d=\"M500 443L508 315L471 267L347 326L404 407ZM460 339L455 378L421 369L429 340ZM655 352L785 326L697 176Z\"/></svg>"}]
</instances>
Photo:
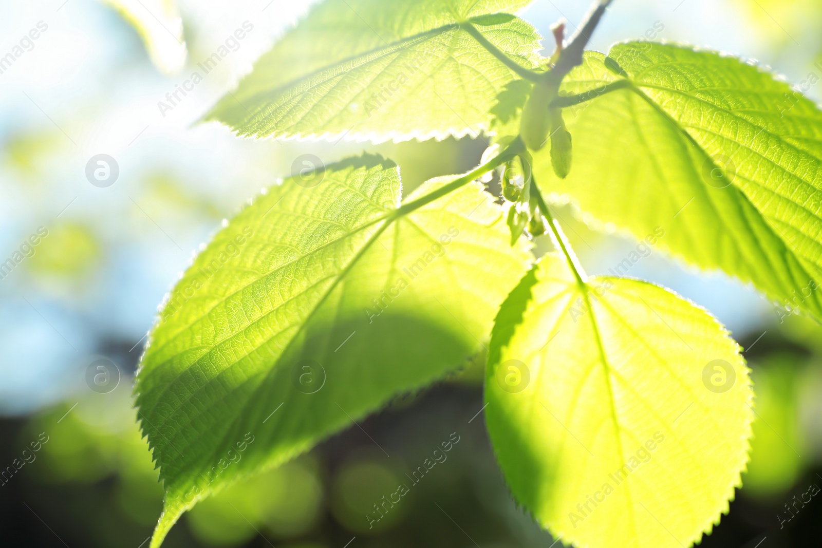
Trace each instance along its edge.
<instances>
[{"instance_id":1,"label":"large green leaf with dark shadow across its lower half and pointed tip","mask_svg":"<svg viewBox=\"0 0 822 548\"><path fill-rule=\"evenodd\" d=\"M173 289L136 379L166 491L151 546L210 492L283 463L473 354L529 263L479 182L400 206L374 156L289 178ZM413 200L421 199L413 205Z\"/></svg>"}]
</instances>

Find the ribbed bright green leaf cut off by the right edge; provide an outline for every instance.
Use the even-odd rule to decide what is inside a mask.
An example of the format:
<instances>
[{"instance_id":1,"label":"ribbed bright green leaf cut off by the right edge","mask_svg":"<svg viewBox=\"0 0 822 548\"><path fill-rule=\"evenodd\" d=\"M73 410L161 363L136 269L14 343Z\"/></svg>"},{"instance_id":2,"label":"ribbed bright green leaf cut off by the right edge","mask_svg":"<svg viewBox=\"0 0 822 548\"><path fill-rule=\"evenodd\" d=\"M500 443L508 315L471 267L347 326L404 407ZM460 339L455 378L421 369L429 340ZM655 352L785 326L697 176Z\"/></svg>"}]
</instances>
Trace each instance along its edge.
<instances>
[{"instance_id":1,"label":"ribbed bright green leaf cut off by the right edge","mask_svg":"<svg viewBox=\"0 0 822 548\"><path fill-rule=\"evenodd\" d=\"M597 98L600 85L626 87ZM723 269L822 318L822 113L757 67L675 45L589 53L562 93L574 166L541 187L703 269ZM618 274L626 274L617 266Z\"/></svg>"}]
</instances>

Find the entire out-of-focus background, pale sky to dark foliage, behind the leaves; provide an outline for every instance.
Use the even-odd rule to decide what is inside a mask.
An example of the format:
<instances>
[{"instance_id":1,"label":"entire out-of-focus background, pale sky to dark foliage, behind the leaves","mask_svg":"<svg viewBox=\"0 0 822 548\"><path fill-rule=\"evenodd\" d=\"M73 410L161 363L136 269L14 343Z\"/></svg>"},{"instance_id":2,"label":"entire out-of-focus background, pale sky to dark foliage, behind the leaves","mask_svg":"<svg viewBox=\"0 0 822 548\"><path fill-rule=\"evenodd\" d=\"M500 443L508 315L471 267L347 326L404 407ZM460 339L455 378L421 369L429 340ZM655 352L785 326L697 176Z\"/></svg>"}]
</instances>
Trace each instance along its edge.
<instances>
[{"instance_id":1,"label":"entire out-of-focus background, pale sky to dark foliage, behind the leaves","mask_svg":"<svg viewBox=\"0 0 822 548\"><path fill-rule=\"evenodd\" d=\"M196 123L311 3L5 2L0 263L12 259L13 268L0 274L3 546L147 546L162 490L131 400L145 334L201 242L261 187L292 173L299 154L326 163L363 150L384 154L399 163L406 191L478 163L482 138L253 141ZM563 17L580 21L587 4L536 0L524 17L547 35ZM245 38L171 104L167 94L246 21ZM820 29L815 0L615 0L590 46L687 42L755 59L799 83L810 72L822 76ZM822 97L819 85L808 93ZM99 158L109 168L104 182L87 175ZM620 233L593 232L570 208L559 215L589 273L606 273L637 246ZM818 545L822 497L809 494L822 486L820 326L658 252L630 275L706 306L753 369L749 472L702 546ZM113 366L98 370L99 363ZM164 546L552 546L512 502L496 467L480 413L482 366L361 423L390 459L363 431L345 431L205 500ZM104 388L89 371L104 375ZM446 463L369 529L363 516L373 501L452 433L459 443Z\"/></svg>"}]
</instances>

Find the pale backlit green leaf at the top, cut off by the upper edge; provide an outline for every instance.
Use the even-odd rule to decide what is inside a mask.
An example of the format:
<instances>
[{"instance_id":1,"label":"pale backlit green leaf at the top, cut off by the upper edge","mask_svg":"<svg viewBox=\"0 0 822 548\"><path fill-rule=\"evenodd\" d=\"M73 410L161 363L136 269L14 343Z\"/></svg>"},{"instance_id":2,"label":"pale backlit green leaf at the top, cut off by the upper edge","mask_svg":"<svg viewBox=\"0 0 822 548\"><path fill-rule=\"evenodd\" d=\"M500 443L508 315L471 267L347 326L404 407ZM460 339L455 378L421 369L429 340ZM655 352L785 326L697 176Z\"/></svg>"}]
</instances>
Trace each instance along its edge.
<instances>
[{"instance_id":1,"label":"pale backlit green leaf at the top, cut off by the upper edge","mask_svg":"<svg viewBox=\"0 0 822 548\"><path fill-rule=\"evenodd\" d=\"M515 73L463 26L537 67L529 0L328 0L206 115L242 136L407 140L476 136Z\"/></svg>"}]
</instances>

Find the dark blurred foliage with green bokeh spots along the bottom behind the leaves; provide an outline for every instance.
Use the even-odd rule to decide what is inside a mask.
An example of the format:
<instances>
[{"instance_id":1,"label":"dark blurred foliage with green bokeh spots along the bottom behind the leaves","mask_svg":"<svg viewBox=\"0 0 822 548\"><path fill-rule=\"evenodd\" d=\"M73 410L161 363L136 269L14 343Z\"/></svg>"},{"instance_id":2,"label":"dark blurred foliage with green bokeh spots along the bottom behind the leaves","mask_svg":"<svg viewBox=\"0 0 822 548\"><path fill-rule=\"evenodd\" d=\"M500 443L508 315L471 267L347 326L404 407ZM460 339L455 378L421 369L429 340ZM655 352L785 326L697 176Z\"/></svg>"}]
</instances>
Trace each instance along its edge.
<instances>
[{"instance_id":1,"label":"dark blurred foliage with green bokeh spots along the bottom behind the leaves","mask_svg":"<svg viewBox=\"0 0 822 548\"><path fill-rule=\"evenodd\" d=\"M822 467L810 460L815 436L803 431L816 425L802 418L819 401L820 328L793 317L785 325L741 341L753 344L747 357L760 394L751 473L702 546L763 539L763 548L816 546L822 535L822 497L808 495L811 484L822 486ZM310 454L205 500L164 546L551 546L516 508L496 466L480 412L482 365L473 361L440 385L397 398ZM14 440L2 445L2 463L43 440L41 432L48 436L35 460L0 487L2 546L137 548L150 535L162 490L127 385L0 422L2 439ZM456 436L443 462L410 477ZM383 504L399 484L409 492Z\"/></svg>"}]
</instances>

